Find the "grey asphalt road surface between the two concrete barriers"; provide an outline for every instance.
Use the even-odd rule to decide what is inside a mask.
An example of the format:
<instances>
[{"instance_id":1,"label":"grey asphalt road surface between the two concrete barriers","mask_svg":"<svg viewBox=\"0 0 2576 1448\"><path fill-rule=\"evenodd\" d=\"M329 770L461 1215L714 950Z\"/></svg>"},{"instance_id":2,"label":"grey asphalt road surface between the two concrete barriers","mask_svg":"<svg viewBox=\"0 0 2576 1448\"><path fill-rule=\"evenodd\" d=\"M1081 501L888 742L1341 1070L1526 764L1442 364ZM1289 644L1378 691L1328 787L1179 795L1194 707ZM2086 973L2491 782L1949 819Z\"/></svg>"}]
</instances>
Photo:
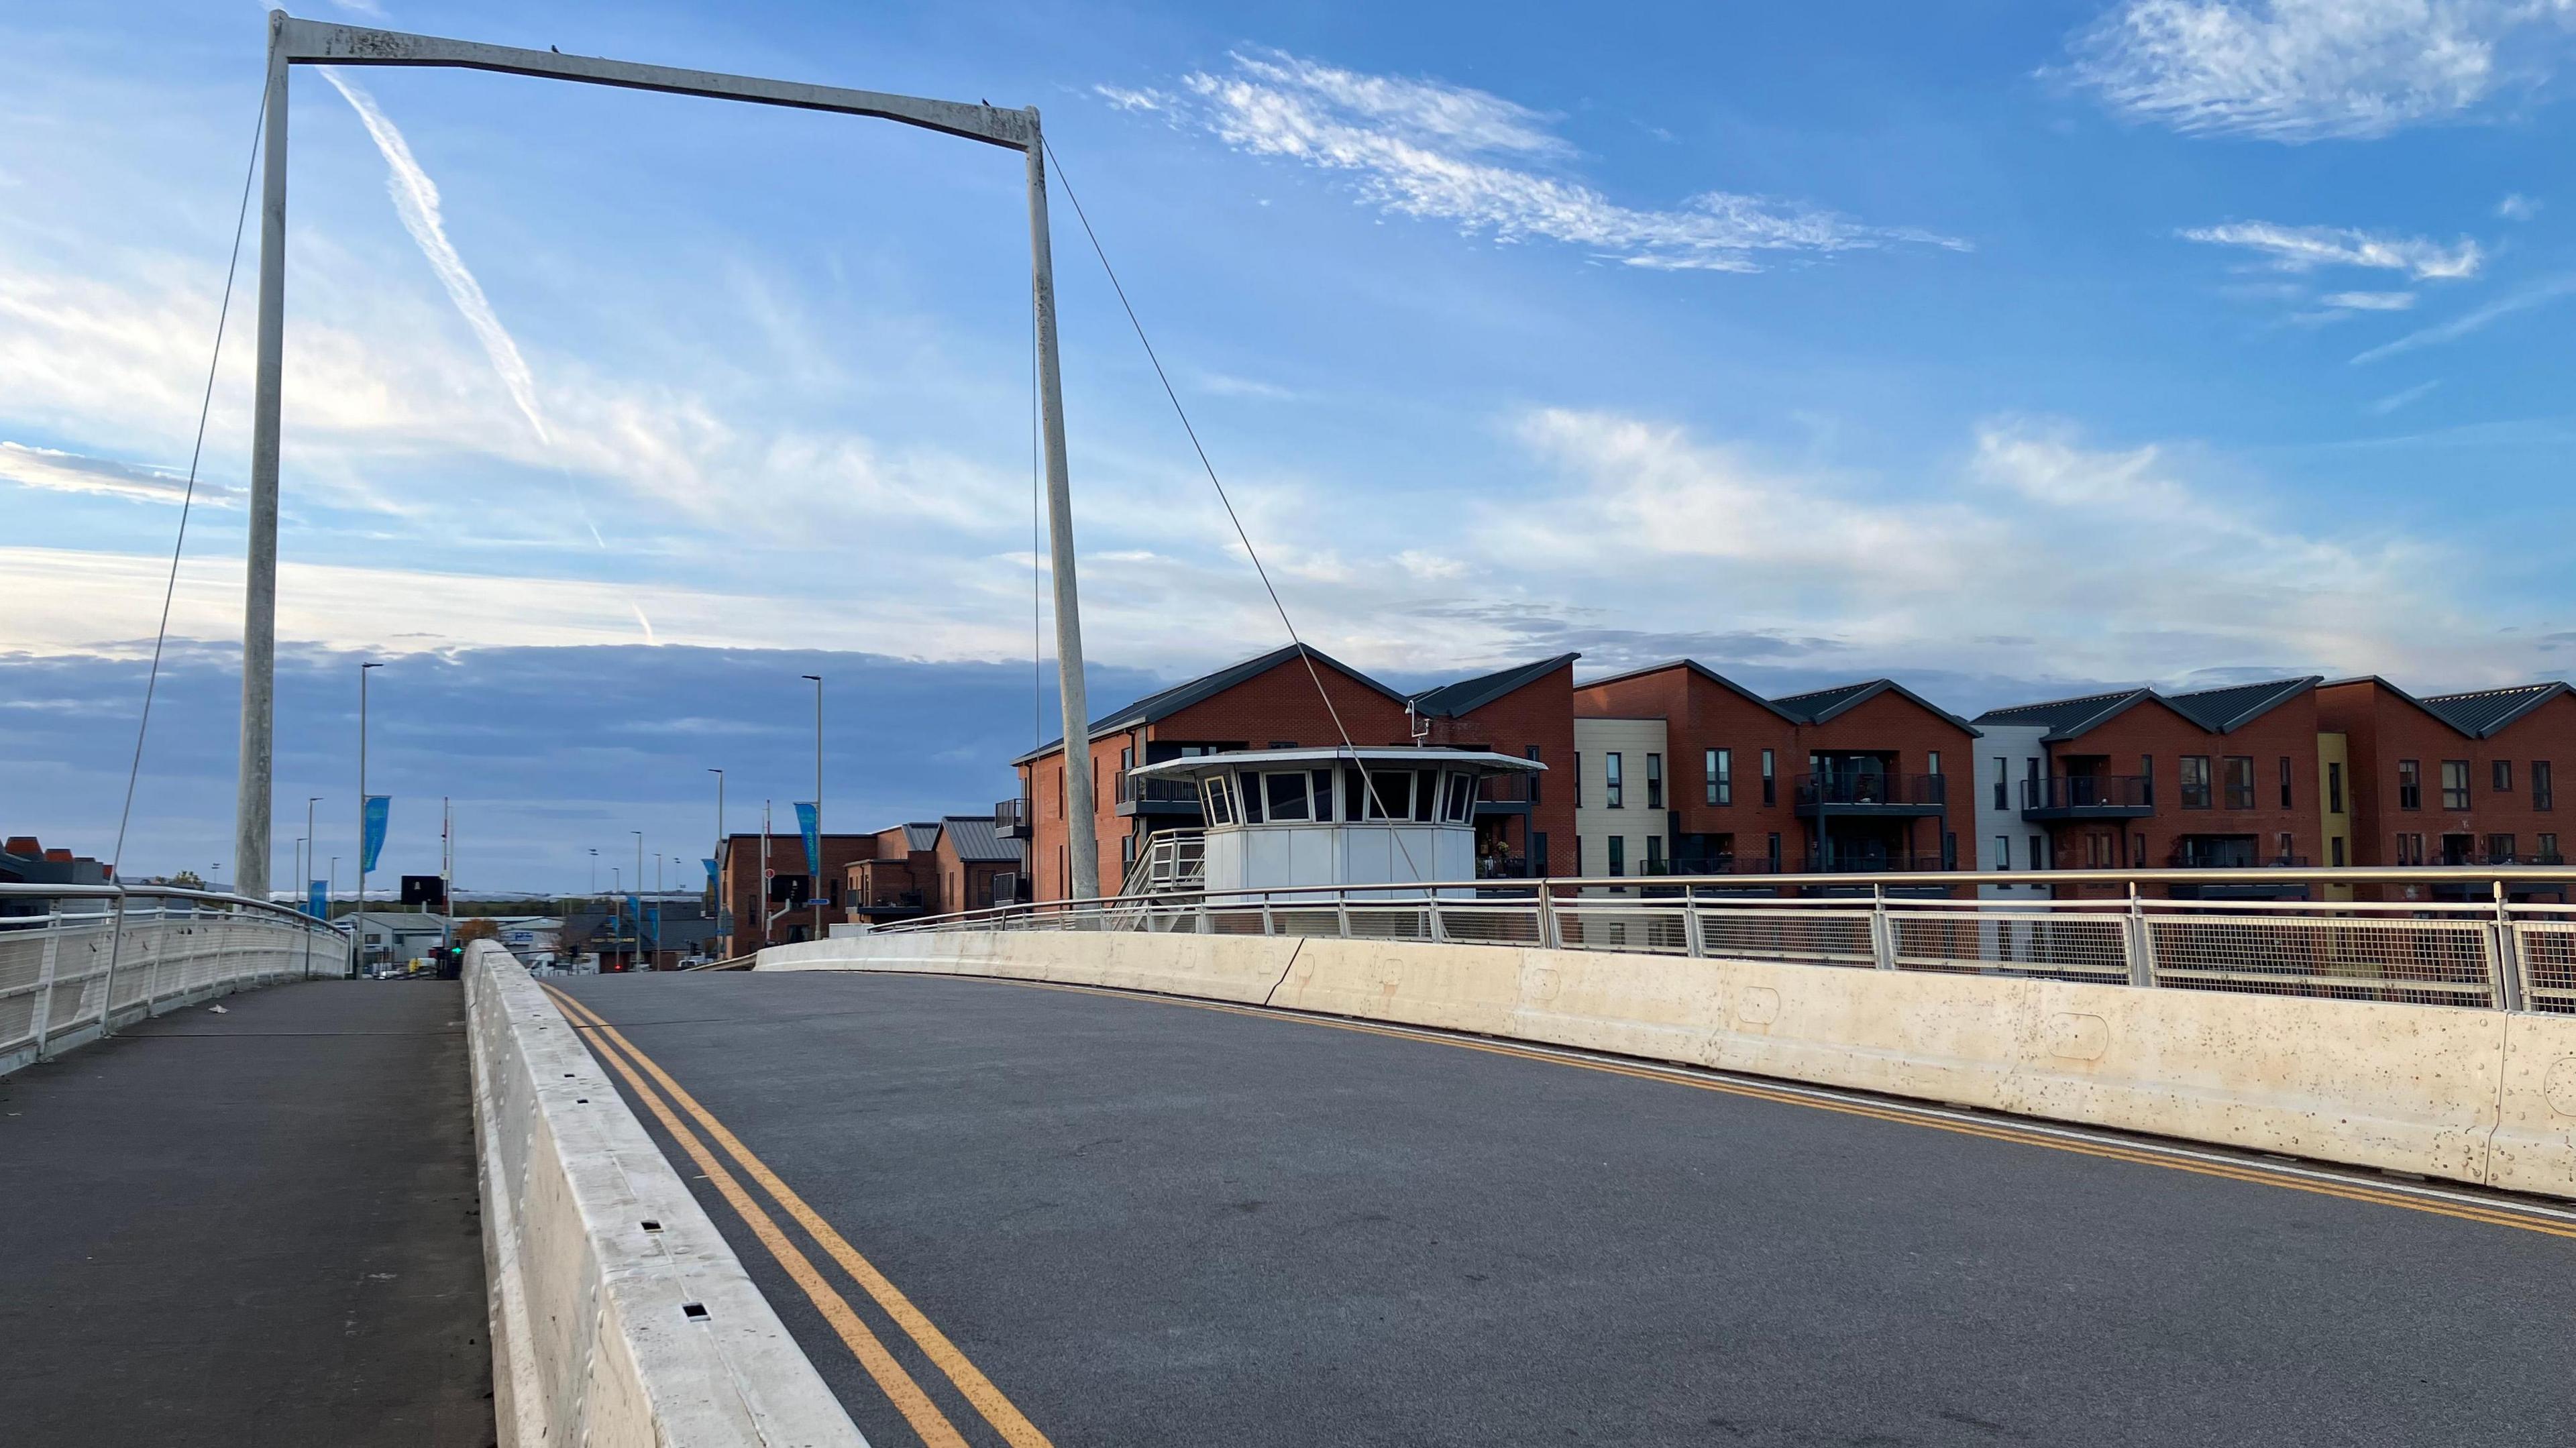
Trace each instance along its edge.
<instances>
[{"instance_id":1,"label":"grey asphalt road surface between the two concrete barriers","mask_svg":"<svg viewBox=\"0 0 2576 1448\"><path fill-rule=\"evenodd\" d=\"M2576 1239L2367 1185L1002 982L572 995L917 1384L647 1103L878 1448L1005 1440L940 1345L1064 1445L2576 1440Z\"/></svg>"}]
</instances>

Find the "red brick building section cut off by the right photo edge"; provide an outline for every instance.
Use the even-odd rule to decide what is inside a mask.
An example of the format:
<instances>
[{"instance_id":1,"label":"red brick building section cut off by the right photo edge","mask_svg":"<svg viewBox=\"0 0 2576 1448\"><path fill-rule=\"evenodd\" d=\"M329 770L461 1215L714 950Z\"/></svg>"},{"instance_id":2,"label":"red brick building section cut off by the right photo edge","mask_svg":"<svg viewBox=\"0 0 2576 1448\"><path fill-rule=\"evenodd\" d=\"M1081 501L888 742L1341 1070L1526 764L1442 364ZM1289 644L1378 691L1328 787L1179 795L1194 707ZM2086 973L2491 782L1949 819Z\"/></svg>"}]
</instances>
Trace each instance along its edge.
<instances>
[{"instance_id":1,"label":"red brick building section cut off by the right photo edge","mask_svg":"<svg viewBox=\"0 0 2576 1448\"><path fill-rule=\"evenodd\" d=\"M2576 760L2566 683L2416 698L2347 678L2316 698L2349 757L2352 863L2563 863L2555 776Z\"/></svg>"}]
</instances>

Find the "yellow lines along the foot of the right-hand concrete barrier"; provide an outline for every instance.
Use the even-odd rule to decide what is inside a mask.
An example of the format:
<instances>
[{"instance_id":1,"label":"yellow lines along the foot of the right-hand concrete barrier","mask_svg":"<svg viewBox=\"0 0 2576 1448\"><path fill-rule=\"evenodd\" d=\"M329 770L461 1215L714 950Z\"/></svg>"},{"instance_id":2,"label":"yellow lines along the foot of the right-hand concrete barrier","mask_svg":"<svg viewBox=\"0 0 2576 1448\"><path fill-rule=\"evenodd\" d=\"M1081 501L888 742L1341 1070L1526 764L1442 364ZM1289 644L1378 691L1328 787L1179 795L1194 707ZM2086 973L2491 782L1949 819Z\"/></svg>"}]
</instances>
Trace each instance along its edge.
<instances>
[{"instance_id":1,"label":"yellow lines along the foot of the right-hand concrete barrier","mask_svg":"<svg viewBox=\"0 0 2576 1448\"><path fill-rule=\"evenodd\" d=\"M902 971L902 974L912 974L912 971ZM2540 1221L2540 1219L2519 1216L2519 1214L2512 1214L2512 1211L2488 1211L2488 1208L2465 1206L2465 1203L2424 1201L2424 1198L2406 1196L2406 1193L2378 1190L2378 1188L2365 1185L2365 1183L2300 1180L2300 1177L2287 1177L2287 1175L2280 1175L2280 1172L2267 1172L2267 1170L2254 1167L2254 1165L2236 1167L2236 1165L2228 1165L2228 1162L2192 1162L2192 1159L2179 1159L2179 1157L2169 1157L2169 1154L2161 1154L2161 1152L2141 1152L2141 1149L2133 1149L2133 1147L2117 1147L2112 1141L2071 1141L2071 1139L2063 1139L2063 1136L2048 1136L2048 1134L2038 1134L2038 1131L2014 1131L2009 1126L1984 1126L1984 1123L1976 1123L1976 1121L1942 1121L1937 1116L1924 1116L1924 1113L1914 1113L1914 1110L1891 1110L1891 1108L1880 1108L1880 1105L1870 1105L1870 1103L1860 1103L1860 1100L1829 1100L1829 1098L1816 1098L1816 1095L1806 1095L1806 1092L1785 1092L1785 1090L1757 1087L1757 1085L1749 1085L1749 1082L1692 1077L1692 1074L1664 1072L1664 1069L1651 1069L1651 1067L1625 1067L1625 1064L1618 1064L1618 1062L1595 1062L1595 1059L1582 1059L1582 1056L1564 1056L1564 1054L1556 1054L1556 1051L1530 1051L1530 1049L1522 1049L1522 1046L1504 1046L1499 1041L1466 1041L1466 1038L1437 1033L1437 1031L1391 1031L1391 1028L1370 1025L1370 1023L1363 1023L1363 1020L1321 1020L1316 1015L1293 1013L1293 1010L1255 1010L1255 1007L1244 1007L1244 1005L1226 1005L1226 1002L1218 1002L1218 1000L1185 1000L1185 997L1175 997L1175 995L1126 992L1126 989L1110 989L1110 987L1079 987L1079 984L1061 984L1061 982L1015 982L1015 979L1005 979L1005 976L976 976L976 979L994 979L997 984L1018 984L1018 987L1036 987L1036 989L1066 989L1066 992L1077 992L1077 995L1144 997L1144 1000L1154 1000L1154 1002L1162 1002L1162 1005L1188 1005L1190 1010L1221 1010L1226 1015L1249 1015L1255 1020L1293 1020L1293 1023L1301 1023L1301 1025L1324 1025L1327 1031L1360 1031L1365 1036L1388 1036L1394 1041L1425 1041L1425 1043L1435 1043L1435 1046L1455 1046L1461 1051L1484 1051L1489 1056L1515 1056L1515 1059L1522 1059L1522 1062L1548 1062L1548 1064L1556 1064L1556 1067L1577 1067L1577 1069L1587 1069L1587 1072L1605 1072L1605 1074L1613 1074L1613 1077L1636 1077L1636 1080L1649 1080L1649 1082L1682 1085L1682 1087L1692 1087L1692 1090L1713 1090L1713 1092L1723 1092L1723 1095L1749 1095L1754 1100L1772 1100L1772 1103L1780 1103L1780 1105L1806 1105L1806 1108L1814 1108L1814 1110L1834 1110L1834 1113L1842 1113L1842 1116L1865 1116L1870 1121L1893 1121L1899 1126L1927 1126L1932 1131L1950 1131L1955 1136L1984 1136L1989 1141L2014 1141L2014 1144L2022 1144L2022 1147L2048 1147L2053 1152L2074 1152L2079 1157L2107 1157L2112 1162L2133 1162L2133 1165L2143 1165L2143 1167L2164 1167L2164 1170L2172 1170L2172 1172L2192 1172L2192 1175L2223 1177L2223 1180L2233 1180L2233 1183L2254 1183L2254 1185L2267 1185L2267 1188L2303 1190L2303 1193L2313 1193L2313 1196L2339 1196L2344 1201L2362 1201L2362 1203L2375 1203L2375 1206L2401 1206L2406 1211L2429 1211L2434 1216L2458 1216L2460 1221L2483 1221L2488 1226L2517 1226L2522 1232L2540 1232L2545 1237L2576 1237L2576 1226L2568 1226L2568 1224Z\"/></svg>"}]
</instances>

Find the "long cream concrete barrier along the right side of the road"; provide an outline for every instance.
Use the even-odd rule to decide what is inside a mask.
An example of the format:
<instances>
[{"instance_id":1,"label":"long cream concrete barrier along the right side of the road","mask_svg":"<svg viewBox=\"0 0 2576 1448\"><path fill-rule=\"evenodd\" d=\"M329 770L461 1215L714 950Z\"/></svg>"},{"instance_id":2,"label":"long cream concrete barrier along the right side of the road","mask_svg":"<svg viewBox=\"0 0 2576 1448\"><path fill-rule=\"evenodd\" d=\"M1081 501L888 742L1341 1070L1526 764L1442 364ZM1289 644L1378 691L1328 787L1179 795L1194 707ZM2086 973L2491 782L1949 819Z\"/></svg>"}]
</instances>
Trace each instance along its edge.
<instances>
[{"instance_id":1,"label":"long cream concrete barrier along the right side of the road","mask_svg":"<svg viewBox=\"0 0 2576 1448\"><path fill-rule=\"evenodd\" d=\"M1082 930L896 933L757 969L1115 984L1479 1031L2576 1196L2576 1018L1777 961Z\"/></svg>"}]
</instances>

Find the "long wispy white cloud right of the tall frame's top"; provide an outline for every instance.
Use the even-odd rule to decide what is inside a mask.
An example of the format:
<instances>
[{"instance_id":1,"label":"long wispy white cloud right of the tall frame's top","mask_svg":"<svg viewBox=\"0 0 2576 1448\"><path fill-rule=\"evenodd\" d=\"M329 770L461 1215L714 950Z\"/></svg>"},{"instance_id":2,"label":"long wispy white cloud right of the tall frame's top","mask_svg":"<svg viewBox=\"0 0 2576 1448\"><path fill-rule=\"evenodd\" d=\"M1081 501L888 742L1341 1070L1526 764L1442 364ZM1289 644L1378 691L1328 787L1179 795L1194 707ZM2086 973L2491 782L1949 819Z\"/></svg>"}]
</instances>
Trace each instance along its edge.
<instances>
[{"instance_id":1,"label":"long wispy white cloud right of the tall frame's top","mask_svg":"<svg viewBox=\"0 0 2576 1448\"><path fill-rule=\"evenodd\" d=\"M1226 72L1193 72L1180 90L1097 93L1162 113L1226 144L1347 175L1360 198L1399 216L1455 222L1499 242L1553 240L1659 271L1762 271L1765 252L1847 252L1968 242L1868 227L1801 201L1708 191L1672 209L1638 209L1556 175L1577 160L1553 116L1440 80L1363 75L1283 52L1236 52Z\"/></svg>"}]
</instances>

